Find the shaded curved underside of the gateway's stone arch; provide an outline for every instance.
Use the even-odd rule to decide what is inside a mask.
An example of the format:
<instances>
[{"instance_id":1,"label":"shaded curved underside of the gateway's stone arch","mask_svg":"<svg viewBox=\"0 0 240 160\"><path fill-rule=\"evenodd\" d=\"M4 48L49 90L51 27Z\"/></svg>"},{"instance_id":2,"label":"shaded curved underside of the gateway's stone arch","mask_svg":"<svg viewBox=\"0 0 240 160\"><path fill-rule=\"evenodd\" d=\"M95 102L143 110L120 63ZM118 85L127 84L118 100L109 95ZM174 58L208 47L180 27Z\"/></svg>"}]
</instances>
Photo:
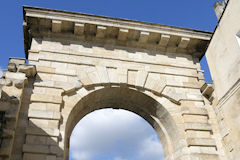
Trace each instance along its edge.
<instances>
[{"instance_id":1,"label":"shaded curved underside of the gateway's stone arch","mask_svg":"<svg viewBox=\"0 0 240 160\"><path fill-rule=\"evenodd\" d=\"M157 100L141 91L125 87L102 88L82 97L69 114L64 116L67 118L64 136L66 160L69 138L75 125L88 113L104 108L125 109L144 118L158 134L167 160L177 158L176 153L186 147L184 143L181 144L178 128L170 113Z\"/></svg>"}]
</instances>

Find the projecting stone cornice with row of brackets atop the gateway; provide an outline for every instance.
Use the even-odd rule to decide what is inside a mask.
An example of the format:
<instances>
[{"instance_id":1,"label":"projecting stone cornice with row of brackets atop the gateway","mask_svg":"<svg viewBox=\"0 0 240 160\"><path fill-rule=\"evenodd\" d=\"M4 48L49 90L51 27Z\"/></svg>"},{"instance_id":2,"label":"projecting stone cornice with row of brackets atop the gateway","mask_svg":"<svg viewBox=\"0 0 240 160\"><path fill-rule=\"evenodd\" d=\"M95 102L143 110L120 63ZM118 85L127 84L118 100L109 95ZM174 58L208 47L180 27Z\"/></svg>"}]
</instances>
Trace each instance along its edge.
<instances>
[{"instance_id":1,"label":"projecting stone cornice with row of brackets atop the gateway","mask_svg":"<svg viewBox=\"0 0 240 160\"><path fill-rule=\"evenodd\" d=\"M155 48L200 57L212 35L210 32L181 27L52 9L24 7L23 10L26 56L31 37L67 35L67 38L77 40L107 44L110 39L114 45Z\"/></svg>"}]
</instances>

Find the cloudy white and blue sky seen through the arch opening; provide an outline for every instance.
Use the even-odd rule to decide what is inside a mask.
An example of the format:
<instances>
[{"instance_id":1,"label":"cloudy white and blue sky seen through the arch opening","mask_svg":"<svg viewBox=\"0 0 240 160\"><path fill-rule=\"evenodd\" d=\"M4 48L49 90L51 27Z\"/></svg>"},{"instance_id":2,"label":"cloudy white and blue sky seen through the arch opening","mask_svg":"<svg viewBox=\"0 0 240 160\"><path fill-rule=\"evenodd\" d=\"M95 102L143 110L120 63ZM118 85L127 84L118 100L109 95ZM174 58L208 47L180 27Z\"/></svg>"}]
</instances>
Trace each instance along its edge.
<instances>
[{"instance_id":1,"label":"cloudy white and blue sky seen through the arch opening","mask_svg":"<svg viewBox=\"0 0 240 160\"><path fill-rule=\"evenodd\" d=\"M70 141L73 160L160 160L161 143L141 117L125 110L104 109L85 116Z\"/></svg>"}]
</instances>

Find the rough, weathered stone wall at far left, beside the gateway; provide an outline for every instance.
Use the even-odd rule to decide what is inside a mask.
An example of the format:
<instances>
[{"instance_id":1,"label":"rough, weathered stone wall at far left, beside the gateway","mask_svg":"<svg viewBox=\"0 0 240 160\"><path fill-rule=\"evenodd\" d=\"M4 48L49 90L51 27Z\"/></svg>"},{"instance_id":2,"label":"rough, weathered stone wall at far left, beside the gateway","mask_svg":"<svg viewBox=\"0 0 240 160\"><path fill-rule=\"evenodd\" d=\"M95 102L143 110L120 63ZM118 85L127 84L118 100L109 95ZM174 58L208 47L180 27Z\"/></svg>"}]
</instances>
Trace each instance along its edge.
<instances>
[{"instance_id":1,"label":"rough, weathered stone wall at far left, beside the gateway","mask_svg":"<svg viewBox=\"0 0 240 160\"><path fill-rule=\"evenodd\" d=\"M24 143L25 128L21 128L20 108L24 104L23 97L27 96L23 94L25 86L35 74L35 66L26 64L25 59L10 58L8 71L0 79L0 159L22 159L21 144Z\"/></svg>"}]
</instances>

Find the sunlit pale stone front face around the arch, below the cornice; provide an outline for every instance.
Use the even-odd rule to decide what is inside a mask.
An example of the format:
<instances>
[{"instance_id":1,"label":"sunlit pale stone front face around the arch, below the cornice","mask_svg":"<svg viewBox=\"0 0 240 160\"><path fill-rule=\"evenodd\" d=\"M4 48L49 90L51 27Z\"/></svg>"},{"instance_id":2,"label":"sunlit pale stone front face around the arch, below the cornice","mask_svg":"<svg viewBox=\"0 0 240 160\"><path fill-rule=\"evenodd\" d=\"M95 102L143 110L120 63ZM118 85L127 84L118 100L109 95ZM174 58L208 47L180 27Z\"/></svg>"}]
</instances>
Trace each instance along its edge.
<instances>
[{"instance_id":1,"label":"sunlit pale stone front face around the arch, below the cornice","mask_svg":"<svg viewBox=\"0 0 240 160\"><path fill-rule=\"evenodd\" d=\"M66 156L66 139L80 120L78 116L85 112L74 108L90 93L109 87L142 92L169 112L174 123L168 125L176 125L177 132L168 130L163 137L166 141L166 137L174 136L170 132L178 135L179 142L175 139L171 143L180 149L167 153L166 159L224 158L215 114L200 92L203 73L199 61L191 55L44 38L32 40L29 63L36 65L37 75L28 111L31 129L26 135L24 159ZM107 97L108 94L102 95ZM100 95L95 98L105 101ZM93 101L88 100L88 103ZM110 106L118 108L117 100L115 102L116 106ZM71 114L72 110L79 113L78 116ZM36 133L40 131L32 127L43 132Z\"/></svg>"}]
</instances>

